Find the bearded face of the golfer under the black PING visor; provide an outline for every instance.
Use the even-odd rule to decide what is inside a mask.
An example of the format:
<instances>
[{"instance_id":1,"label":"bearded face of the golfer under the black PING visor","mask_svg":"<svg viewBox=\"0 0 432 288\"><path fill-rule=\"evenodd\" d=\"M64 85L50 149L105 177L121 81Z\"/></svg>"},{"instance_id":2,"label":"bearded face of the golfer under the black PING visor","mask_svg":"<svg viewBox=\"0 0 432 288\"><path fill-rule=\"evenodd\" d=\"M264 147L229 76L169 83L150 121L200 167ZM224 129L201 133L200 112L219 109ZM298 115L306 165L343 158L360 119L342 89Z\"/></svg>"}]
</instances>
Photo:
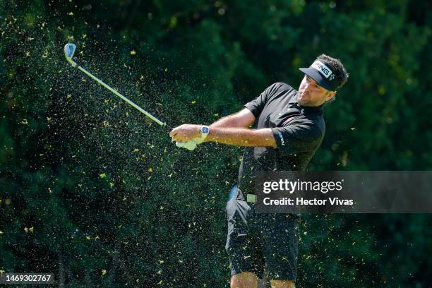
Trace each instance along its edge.
<instances>
[{"instance_id":1,"label":"bearded face of the golfer under the black PING visor","mask_svg":"<svg viewBox=\"0 0 432 288\"><path fill-rule=\"evenodd\" d=\"M321 87L315 80L305 75L299 87L299 104L301 106L318 107L332 99L335 94L336 91L329 91Z\"/></svg>"}]
</instances>

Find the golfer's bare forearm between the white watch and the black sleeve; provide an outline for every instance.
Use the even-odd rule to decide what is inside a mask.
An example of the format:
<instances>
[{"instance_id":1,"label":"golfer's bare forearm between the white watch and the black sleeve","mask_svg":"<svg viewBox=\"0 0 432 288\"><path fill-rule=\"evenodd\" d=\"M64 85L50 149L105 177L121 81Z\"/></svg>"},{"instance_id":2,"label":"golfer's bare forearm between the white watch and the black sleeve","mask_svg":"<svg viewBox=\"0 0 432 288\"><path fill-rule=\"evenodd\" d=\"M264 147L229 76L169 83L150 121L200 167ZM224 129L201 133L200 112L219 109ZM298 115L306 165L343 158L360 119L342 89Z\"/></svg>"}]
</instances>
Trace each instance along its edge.
<instances>
[{"instance_id":1,"label":"golfer's bare forearm between the white watch and the black sleeve","mask_svg":"<svg viewBox=\"0 0 432 288\"><path fill-rule=\"evenodd\" d=\"M248 128L219 128L210 126L210 133L205 142L217 142L234 146L276 147L272 130Z\"/></svg>"}]
</instances>

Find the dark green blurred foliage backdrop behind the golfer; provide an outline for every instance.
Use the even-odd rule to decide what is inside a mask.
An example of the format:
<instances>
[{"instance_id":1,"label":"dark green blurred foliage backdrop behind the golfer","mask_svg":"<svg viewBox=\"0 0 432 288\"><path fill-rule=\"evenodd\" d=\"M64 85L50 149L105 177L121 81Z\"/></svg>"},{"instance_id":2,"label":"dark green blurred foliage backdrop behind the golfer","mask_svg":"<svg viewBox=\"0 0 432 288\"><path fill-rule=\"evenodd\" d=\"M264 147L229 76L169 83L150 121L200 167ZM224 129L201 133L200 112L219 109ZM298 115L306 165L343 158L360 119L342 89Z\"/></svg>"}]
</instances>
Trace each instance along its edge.
<instances>
[{"instance_id":1,"label":"dark green blurred foliage backdrop behind the golfer","mask_svg":"<svg viewBox=\"0 0 432 288\"><path fill-rule=\"evenodd\" d=\"M349 82L309 170L432 168L430 1L0 1L0 270L61 287L227 287L241 148L210 124L318 54ZM415 188L415 184L413 184ZM409 191L407 191L409 193ZM304 215L297 287L430 287L431 216Z\"/></svg>"}]
</instances>

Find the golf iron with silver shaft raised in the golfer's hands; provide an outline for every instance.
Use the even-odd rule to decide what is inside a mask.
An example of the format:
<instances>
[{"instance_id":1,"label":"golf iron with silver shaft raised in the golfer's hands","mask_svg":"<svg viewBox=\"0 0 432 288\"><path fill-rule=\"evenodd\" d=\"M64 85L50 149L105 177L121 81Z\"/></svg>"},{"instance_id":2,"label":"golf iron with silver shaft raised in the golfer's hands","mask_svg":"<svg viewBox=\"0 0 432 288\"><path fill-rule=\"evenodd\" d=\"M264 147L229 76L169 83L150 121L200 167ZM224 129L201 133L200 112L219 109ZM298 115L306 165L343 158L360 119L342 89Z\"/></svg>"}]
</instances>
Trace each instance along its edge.
<instances>
[{"instance_id":1,"label":"golf iron with silver shaft raised in the golfer's hands","mask_svg":"<svg viewBox=\"0 0 432 288\"><path fill-rule=\"evenodd\" d=\"M167 128L169 128L169 131L172 131L171 126L167 125L165 122L160 121L160 119L157 119L152 114L146 112L143 108L139 107L137 104L133 103L131 100L128 100L128 98L124 97L123 95L121 95L119 92L117 92L113 88L109 87L109 85L105 84L102 80L93 76L92 73L85 70L85 68L76 64L76 62L73 61L73 54L75 53L75 50L76 50L76 44L68 43L68 44L64 45L64 56L66 57L66 60L73 66L73 68L78 68L81 72L85 73L87 76L89 76L90 78L95 80L100 85L104 86L104 88L107 88L109 91L113 92L114 95L116 95L116 96L120 97L122 100L126 101L129 105L131 105L132 107L137 109L139 112L145 114L145 116L148 116L148 118L152 119L153 121L155 121L160 126L167 127ZM193 141L188 141L186 143L177 142L176 145L178 147L184 147L188 150L193 150L196 148L196 143Z\"/></svg>"}]
</instances>

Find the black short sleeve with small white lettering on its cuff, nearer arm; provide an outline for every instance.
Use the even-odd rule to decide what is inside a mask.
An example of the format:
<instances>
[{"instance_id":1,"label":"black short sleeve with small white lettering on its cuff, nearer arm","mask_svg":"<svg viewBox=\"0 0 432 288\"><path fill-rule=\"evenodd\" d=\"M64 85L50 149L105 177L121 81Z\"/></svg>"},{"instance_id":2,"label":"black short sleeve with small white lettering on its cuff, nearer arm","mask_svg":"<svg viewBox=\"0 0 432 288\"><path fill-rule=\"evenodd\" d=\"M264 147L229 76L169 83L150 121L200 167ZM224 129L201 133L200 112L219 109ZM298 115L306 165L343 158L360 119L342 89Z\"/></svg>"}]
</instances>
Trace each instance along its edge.
<instances>
[{"instance_id":1,"label":"black short sleeve with small white lettering on its cuff, nearer arm","mask_svg":"<svg viewBox=\"0 0 432 288\"><path fill-rule=\"evenodd\" d=\"M313 152L323 140L323 131L313 124L294 124L272 128L277 148L282 154Z\"/></svg>"}]
</instances>

